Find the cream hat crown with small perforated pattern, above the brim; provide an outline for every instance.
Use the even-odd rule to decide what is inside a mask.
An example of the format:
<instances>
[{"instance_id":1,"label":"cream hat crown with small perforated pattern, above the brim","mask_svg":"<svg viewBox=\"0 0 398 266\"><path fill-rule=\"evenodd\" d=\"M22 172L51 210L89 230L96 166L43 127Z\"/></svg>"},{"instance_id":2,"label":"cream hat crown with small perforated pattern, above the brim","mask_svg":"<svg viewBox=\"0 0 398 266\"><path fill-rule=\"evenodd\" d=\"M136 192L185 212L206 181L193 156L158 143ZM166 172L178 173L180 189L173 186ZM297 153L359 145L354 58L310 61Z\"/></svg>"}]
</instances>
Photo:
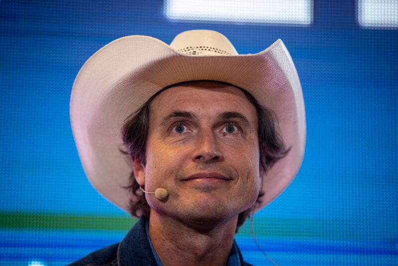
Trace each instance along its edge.
<instances>
[{"instance_id":1,"label":"cream hat crown with small perforated pattern, above the brim","mask_svg":"<svg viewBox=\"0 0 398 266\"><path fill-rule=\"evenodd\" d=\"M187 55L237 55L232 43L214 30L188 30L181 32L170 47Z\"/></svg>"}]
</instances>

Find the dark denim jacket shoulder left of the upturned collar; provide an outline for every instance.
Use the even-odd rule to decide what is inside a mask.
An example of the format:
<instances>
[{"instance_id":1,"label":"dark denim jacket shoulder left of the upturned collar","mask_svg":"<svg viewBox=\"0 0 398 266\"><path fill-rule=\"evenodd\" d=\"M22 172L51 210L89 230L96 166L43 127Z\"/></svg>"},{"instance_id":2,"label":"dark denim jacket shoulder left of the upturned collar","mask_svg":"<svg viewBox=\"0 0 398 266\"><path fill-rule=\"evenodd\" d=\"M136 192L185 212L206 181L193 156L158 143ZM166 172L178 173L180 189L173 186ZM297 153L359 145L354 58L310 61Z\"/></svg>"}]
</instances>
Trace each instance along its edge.
<instances>
[{"instance_id":1,"label":"dark denim jacket shoulder left of the upturned collar","mask_svg":"<svg viewBox=\"0 0 398 266\"><path fill-rule=\"evenodd\" d=\"M119 246L119 243L110 245L106 248L100 249L98 251L95 251L93 253L90 253L86 257L80 259L79 261L76 261L70 266L80 266L80 265L86 265L86 266L114 266L117 265L117 248Z\"/></svg>"}]
</instances>

